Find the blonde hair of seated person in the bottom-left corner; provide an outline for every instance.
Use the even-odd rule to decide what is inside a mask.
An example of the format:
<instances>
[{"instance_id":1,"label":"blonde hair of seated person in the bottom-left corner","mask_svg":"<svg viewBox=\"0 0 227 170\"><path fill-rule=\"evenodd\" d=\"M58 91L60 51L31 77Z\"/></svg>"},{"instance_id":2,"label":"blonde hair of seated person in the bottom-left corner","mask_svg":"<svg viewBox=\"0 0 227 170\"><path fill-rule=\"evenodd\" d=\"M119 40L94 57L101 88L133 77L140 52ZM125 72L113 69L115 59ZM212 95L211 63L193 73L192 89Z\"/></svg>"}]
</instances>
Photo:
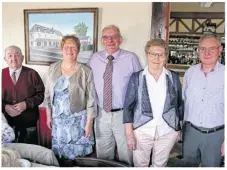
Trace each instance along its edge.
<instances>
[{"instance_id":1,"label":"blonde hair of seated person in the bottom-left corner","mask_svg":"<svg viewBox=\"0 0 227 170\"><path fill-rule=\"evenodd\" d=\"M20 167L19 159L17 151L2 147L2 167Z\"/></svg>"}]
</instances>

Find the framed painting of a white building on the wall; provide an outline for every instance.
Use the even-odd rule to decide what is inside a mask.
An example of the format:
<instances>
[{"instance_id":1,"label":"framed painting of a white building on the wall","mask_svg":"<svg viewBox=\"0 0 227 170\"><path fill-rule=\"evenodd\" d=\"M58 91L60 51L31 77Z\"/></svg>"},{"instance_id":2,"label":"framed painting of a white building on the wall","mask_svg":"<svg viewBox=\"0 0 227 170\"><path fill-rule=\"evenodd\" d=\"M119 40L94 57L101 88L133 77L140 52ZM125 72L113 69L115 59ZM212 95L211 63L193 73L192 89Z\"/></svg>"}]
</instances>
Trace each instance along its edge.
<instances>
[{"instance_id":1,"label":"framed painting of a white building on the wall","mask_svg":"<svg viewBox=\"0 0 227 170\"><path fill-rule=\"evenodd\" d=\"M97 51L98 8L25 9L26 64L50 65L60 59L61 39L80 39L78 61L86 63Z\"/></svg>"}]
</instances>

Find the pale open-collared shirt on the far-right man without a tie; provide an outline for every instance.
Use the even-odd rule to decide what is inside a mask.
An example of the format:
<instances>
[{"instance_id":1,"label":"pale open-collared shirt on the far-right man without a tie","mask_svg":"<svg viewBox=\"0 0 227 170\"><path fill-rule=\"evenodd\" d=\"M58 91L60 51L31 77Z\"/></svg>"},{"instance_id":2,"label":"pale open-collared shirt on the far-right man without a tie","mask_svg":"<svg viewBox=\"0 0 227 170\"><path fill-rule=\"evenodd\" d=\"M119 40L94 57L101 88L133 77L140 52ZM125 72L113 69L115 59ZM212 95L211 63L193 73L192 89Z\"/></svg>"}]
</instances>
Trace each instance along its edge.
<instances>
[{"instance_id":1,"label":"pale open-collared shirt on the far-right man without a tie","mask_svg":"<svg viewBox=\"0 0 227 170\"><path fill-rule=\"evenodd\" d=\"M206 76L201 64L191 66L184 75L184 120L198 127L224 124L225 66L217 62Z\"/></svg>"}]
</instances>

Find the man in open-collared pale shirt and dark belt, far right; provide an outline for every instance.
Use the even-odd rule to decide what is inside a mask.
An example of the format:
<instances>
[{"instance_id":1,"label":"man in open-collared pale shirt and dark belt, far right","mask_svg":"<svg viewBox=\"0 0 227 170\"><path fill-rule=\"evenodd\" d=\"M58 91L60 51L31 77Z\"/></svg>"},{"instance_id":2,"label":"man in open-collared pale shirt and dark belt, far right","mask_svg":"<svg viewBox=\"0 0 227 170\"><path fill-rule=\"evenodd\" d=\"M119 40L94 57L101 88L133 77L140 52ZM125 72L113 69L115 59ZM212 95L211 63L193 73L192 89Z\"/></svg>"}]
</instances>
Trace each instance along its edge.
<instances>
[{"instance_id":1,"label":"man in open-collared pale shirt and dark belt, far right","mask_svg":"<svg viewBox=\"0 0 227 170\"><path fill-rule=\"evenodd\" d=\"M218 167L224 155L224 65L217 35L199 40L200 64L184 76L185 102L183 160L185 166Z\"/></svg>"}]
</instances>

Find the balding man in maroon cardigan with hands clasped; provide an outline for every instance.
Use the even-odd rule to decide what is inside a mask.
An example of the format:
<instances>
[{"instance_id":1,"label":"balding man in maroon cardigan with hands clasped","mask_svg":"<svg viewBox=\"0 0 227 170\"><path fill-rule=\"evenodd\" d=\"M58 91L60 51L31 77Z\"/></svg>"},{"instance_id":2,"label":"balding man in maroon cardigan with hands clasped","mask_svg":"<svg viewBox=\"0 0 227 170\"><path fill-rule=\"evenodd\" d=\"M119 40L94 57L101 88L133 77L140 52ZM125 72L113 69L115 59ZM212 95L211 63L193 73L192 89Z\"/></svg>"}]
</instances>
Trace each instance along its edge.
<instances>
[{"instance_id":1,"label":"balding man in maroon cardigan with hands clasped","mask_svg":"<svg viewBox=\"0 0 227 170\"><path fill-rule=\"evenodd\" d=\"M22 66L24 56L17 46L5 50L9 67L2 70L2 112L15 130L15 142L37 144L38 106L44 99L39 74Z\"/></svg>"}]
</instances>

